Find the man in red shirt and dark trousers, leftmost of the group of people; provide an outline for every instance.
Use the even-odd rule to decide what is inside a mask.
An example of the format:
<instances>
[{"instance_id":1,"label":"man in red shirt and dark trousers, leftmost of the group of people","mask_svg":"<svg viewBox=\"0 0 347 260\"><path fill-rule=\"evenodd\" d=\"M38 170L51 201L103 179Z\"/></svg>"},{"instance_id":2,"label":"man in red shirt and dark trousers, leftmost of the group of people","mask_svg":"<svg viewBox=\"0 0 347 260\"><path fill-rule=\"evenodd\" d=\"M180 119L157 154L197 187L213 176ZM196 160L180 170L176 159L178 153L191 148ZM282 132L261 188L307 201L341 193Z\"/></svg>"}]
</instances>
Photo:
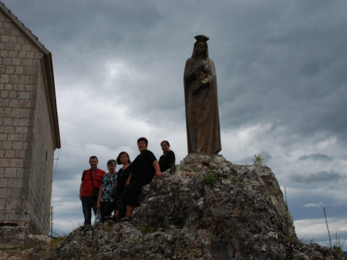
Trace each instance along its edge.
<instances>
[{"instance_id":1,"label":"man in red shirt and dark trousers, leftmost of the group of people","mask_svg":"<svg viewBox=\"0 0 347 260\"><path fill-rule=\"evenodd\" d=\"M93 197L94 188L101 187L105 171L98 168L98 157L92 156L89 159L90 169L83 171L80 186L80 199L82 202L85 225L92 225L92 209L96 214L98 197ZM99 195L99 193L97 194Z\"/></svg>"}]
</instances>

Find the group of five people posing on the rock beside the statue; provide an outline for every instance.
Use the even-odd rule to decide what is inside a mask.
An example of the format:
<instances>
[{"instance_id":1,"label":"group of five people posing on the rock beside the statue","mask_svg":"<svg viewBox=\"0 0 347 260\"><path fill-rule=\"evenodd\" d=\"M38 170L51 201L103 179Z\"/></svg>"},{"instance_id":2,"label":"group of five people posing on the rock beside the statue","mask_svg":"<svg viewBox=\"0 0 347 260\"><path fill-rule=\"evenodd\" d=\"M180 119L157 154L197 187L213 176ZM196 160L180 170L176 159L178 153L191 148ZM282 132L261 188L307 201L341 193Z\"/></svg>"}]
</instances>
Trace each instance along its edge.
<instances>
[{"instance_id":1,"label":"group of five people posing on the rock beside the statue","mask_svg":"<svg viewBox=\"0 0 347 260\"><path fill-rule=\"evenodd\" d=\"M92 209L96 214L100 210L102 220L130 221L134 207L138 205L142 187L149 184L153 177L162 179L162 173L175 164L176 158L170 150L169 141L162 141L163 155L159 162L155 155L147 150L148 140L137 140L139 155L131 162L128 153L119 153L117 159L107 162L108 173L98 168L98 158L90 157L90 169L83 171L80 187L84 225L92 224ZM122 167L116 171L117 164ZM112 215L113 211L115 214Z\"/></svg>"}]
</instances>

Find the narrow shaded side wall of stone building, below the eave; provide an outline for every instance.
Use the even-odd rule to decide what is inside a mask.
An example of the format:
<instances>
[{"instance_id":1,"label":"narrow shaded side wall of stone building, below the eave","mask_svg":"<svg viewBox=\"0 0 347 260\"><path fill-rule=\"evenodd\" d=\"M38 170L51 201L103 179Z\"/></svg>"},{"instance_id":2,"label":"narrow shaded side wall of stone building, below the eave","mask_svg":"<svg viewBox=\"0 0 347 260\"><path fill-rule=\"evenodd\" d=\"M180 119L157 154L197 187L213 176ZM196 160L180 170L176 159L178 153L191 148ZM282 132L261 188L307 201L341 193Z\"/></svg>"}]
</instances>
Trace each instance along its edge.
<instances>
[{"instance_id":1,"label":"narrow shaded side wall of stone building, below the eave","mask_svg":"<svg viewBox=\"0 0 347 260\"><path fill-rule=\"evenodd\" d=\"M49 234L54 147L42 73L37 84L32 149L29 183L31 233Z\"/></svg>"}]
</instances>

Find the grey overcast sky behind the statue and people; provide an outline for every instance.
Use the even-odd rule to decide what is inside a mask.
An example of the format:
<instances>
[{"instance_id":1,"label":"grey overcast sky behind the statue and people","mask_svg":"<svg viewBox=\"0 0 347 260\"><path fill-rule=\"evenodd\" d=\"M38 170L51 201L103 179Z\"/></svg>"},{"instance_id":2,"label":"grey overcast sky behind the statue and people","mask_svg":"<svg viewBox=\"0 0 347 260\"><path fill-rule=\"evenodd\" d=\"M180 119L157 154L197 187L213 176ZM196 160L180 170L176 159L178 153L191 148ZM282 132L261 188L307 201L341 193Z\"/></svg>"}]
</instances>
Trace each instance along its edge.
<instances>
[{"instance_id":1,"label":"grey overcast sky behind the statue and people","mask_svg":"<svg viewBox=\"0 0 347 260\"><path fill-rule=\"evenodd\" d=\"M91 155L149 139L187 155L183 70L194 36L210 37L221 155L275 173L298 237L347 239L346 0L2 0L53 55L62 148L56 232L83 223L78 189Z\"/></svg>"}]
</instances>

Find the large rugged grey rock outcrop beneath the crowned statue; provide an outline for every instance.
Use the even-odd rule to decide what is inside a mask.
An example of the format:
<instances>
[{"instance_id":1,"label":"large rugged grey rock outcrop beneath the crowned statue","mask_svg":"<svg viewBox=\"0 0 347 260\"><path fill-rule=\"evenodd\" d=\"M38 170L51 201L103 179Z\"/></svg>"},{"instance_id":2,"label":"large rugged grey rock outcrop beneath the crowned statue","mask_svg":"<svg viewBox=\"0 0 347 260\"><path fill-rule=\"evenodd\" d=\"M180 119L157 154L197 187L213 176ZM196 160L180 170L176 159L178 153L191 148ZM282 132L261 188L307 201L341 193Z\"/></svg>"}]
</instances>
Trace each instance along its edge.
<instances>
[{"instance_id":1,"label":"large rugged grey rock outcrop beneath the crowned statue","mask_svg":"<svg viewBox=\"0 0 347 260\"><path fill-rule=\"evenodd\" d=\"M142 190L130 223L79 227L56 259L325 259L328 248L303 245L271 169L223 157L189 156L174 174Z\"/></svg>"}]
</instances>

